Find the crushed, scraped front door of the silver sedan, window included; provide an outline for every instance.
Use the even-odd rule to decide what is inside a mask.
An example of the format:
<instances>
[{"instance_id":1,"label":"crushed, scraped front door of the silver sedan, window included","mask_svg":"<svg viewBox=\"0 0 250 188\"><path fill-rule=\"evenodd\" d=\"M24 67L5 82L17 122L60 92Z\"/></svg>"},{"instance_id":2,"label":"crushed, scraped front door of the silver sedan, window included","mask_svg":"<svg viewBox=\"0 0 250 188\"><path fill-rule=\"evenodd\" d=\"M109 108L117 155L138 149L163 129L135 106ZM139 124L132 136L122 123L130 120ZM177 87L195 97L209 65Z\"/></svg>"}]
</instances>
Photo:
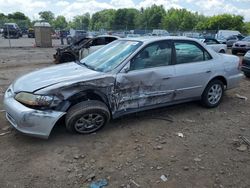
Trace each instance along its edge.
<instances>
[{"instance_id":1,"label":"crushed, scraped front door of the silver sedan, window included","mask_svg":"<svg viewBox=\"0 0 250 188\"><path fill-rule=\"evenodd\" d=\"M117 74L116 111L139 111L141 108L172 101L175 75L172 65L172 42L147 45Z\"/></svg>"}]
</instances>

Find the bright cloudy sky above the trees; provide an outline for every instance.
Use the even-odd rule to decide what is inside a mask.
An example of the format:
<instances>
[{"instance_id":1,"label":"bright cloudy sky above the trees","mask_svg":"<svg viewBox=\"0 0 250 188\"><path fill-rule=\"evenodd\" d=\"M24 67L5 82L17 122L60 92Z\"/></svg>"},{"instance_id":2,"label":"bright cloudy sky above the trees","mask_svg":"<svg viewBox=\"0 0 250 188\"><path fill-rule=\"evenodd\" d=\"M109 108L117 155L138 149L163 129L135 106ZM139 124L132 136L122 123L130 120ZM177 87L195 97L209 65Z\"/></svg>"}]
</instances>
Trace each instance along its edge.
<instances>
[{"instance_id":1,"label":"bright cloudy sky above the trees","mask_svg":"<svg viewBox=\"0 0 250 188\"><path fill-rule=\"evenodd\" d=\"M75 15L89 12L93 14L107 8L140 8L153 4L186 8L204 15L221 13L239 14L250 21L250 0L0 0L0 12L4 14L20 11L32 20L38 18L38 12L50 10L56 16L64 15L71 20Z\"/></svg>"}]
</instances>

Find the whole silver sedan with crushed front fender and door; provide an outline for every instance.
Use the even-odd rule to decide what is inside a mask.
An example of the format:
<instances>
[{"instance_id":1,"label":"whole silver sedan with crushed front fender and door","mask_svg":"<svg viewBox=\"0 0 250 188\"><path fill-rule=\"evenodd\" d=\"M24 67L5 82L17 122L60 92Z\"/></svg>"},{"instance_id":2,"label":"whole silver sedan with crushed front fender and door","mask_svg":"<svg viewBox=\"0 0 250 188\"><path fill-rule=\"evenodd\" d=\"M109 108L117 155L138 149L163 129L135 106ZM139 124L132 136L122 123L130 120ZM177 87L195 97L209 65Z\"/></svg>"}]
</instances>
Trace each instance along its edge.
<instances>
[{"instance_id":1,"label":"whole silver sedan with crushed front fender and door","mask_svg":"<svg viewBox=\"0 0 250 188\"><path fill-rule=\"evenodd\" d=\"M192 100L212 108L239 84L239 62L189 38L119 39L17 79L4 96L6 117L20 132L48 138L62 117L67 130L86 134L142 110Z\"/></svg>"}]
</instances>

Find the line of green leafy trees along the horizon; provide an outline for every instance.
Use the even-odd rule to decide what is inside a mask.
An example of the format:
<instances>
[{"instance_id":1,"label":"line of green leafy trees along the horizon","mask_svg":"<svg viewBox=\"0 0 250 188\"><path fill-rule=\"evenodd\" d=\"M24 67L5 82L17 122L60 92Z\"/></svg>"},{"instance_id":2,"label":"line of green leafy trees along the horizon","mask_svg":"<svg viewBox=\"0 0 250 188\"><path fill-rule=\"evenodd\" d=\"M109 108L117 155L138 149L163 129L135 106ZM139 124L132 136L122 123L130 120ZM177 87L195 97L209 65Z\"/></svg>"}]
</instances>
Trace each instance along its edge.
<instances>
[{"instance_id":1,"label":"line of green leafy trees along the horizon","mask_svg":"<svg viewBox=\"0 0 250 188\"><path fill-rule=\"evenodd\" d=\"M21 12L4 15L0 13L0 27L5 22L15 22L21 27L32 27L36 21L47 21L54 29L84 30L132 30L132 29L166 29L169 32L203 31L232 29L242 33L250 33L250 22L244 22L240 15L221 14L204 16L187 9L171 8L165 10L162 5L148 8L105 9L94 13L75 16L67 21L63 15L56 16L51 11L39 12L40 19L31 20Z\"/></svg>"}]
</instances>

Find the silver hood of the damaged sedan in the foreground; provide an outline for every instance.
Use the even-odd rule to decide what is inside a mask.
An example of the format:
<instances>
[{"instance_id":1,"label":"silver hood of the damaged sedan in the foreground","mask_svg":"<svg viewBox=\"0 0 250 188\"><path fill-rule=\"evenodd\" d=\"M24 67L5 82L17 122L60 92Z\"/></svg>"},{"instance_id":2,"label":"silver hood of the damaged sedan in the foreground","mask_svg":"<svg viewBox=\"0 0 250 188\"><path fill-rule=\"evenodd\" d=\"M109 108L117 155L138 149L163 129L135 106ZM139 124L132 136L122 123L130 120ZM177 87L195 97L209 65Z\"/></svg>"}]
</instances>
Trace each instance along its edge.
<instances>
[{"instance_id":1,"label":"silver hood of the damaged sedan in the foreground","mask_svg":"<svg viewBox=\"0 0 250 188\"><path fill-rule=\"evenodd\" d=\"M22 76L13 83L13 89L14 92L34 92L60 82L68 82L78 79L80 81L102 74L103 73L101 72L90 70L84 66L78 65L77 63L65 63L34 71Z\"/></svg>"}]
</instances>

